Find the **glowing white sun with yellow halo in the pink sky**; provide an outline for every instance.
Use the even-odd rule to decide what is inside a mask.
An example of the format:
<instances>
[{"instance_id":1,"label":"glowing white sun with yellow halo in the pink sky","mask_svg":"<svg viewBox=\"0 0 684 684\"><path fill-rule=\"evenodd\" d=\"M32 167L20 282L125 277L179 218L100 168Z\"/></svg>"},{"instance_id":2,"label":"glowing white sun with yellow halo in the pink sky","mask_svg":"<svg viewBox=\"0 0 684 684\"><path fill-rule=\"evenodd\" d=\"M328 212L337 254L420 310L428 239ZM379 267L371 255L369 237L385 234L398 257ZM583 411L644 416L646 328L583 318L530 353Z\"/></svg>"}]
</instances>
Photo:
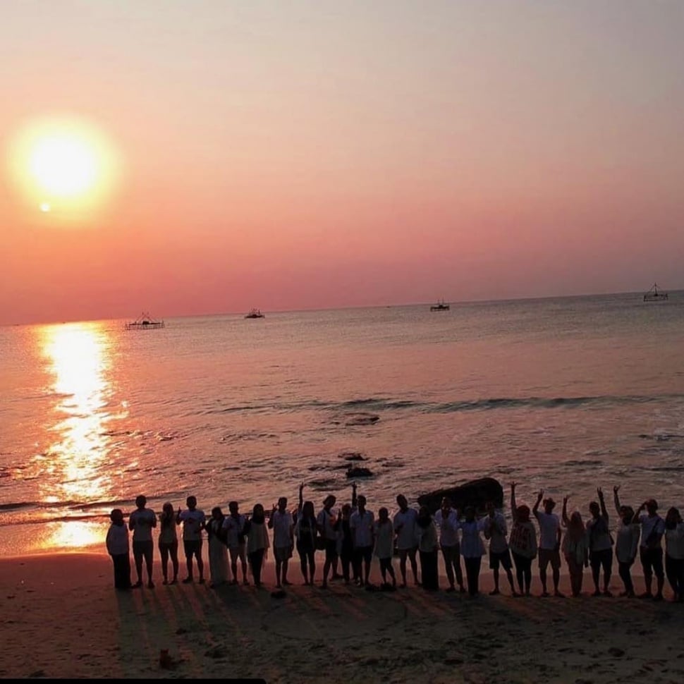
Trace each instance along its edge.
<instances>
[{"instance_id":1,"label":"glowing white sun with yellow halo in the pink sky","mask_svg":"<svg viewBox=\"0 0 684 684\"><path fill-rule=\"evenodd\" d=\"M118 154L90 121L75 116L31 121L13 140L11 176L29 207L43 214L90 218L116 188Z\"/></svg>"}]
</instances>

